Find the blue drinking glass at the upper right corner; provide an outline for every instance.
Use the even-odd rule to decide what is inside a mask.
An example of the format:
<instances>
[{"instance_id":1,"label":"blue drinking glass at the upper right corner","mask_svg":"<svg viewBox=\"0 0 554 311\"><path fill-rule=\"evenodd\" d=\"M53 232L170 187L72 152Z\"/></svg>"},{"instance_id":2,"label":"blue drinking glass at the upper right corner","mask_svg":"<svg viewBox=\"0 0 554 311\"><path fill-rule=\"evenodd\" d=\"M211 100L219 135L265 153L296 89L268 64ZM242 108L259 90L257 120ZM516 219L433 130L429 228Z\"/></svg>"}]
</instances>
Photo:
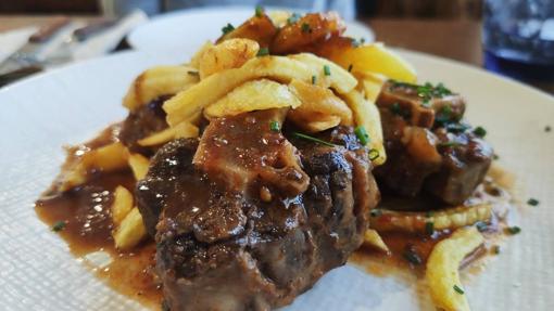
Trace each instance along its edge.
<instances>
[{"instance_id":1,"label":"blue drinking glass at the upper right corner","mask_svg":"<svg viewBox=\"0 0 554 311\"><path fill-rule=\"evenodd\" d=\"M482 43L487 69L554 81L554 0L486 0Z\"/></svg>"}]
</instances>

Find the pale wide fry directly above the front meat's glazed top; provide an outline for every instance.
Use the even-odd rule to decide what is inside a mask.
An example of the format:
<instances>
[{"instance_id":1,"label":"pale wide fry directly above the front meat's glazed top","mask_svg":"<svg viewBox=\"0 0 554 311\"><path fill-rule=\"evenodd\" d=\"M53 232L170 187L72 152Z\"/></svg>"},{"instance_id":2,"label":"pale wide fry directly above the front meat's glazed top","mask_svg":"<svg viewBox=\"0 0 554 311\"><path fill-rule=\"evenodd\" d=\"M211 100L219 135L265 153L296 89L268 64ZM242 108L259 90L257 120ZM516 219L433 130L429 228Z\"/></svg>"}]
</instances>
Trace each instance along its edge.
<instances>
[{"instance_id":1,"label":"pale wide fry directly above the front meat's glazed top","mask_svg":"<svg viewBox=\"0 0 554 311\"><path fill-rule=\"evenodd\" d=\"M204 109L206 118L234 116L252 111L292 107L301 105L287 86L260 79L248 81L230 91Z\"/></svg>"}]
</instances>

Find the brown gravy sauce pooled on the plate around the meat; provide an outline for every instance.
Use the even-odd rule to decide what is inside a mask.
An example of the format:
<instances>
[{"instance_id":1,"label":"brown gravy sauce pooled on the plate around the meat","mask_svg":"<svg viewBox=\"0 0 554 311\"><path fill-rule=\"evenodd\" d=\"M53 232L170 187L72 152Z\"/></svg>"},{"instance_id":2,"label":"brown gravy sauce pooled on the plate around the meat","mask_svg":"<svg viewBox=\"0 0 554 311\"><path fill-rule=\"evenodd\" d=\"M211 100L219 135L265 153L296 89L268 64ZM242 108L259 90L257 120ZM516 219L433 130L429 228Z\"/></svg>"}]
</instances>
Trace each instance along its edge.
<instances>
[{"instance_id":1,"label":"brown gravy sauce pooled on the plate around the meat","mask_svg":"<svg viewBox=\"0 0 554 311\"><path fill-rule=\"evenodd\" d=\"M71 166L83 151L99 147L115 141L118 125L110 127L98 139L68 148L68 157L64 168ZM511 190L513 178L508 173L493 167L489 177L499 187ZM103 280L116 291L126 295L144 307L160 310L162 290L153 273L155 245L152 239L143 242L133 251L122 252L114 247L112 238L113 224L110 206L113 200L113 191L117 185L134 190L135 180L129 170L112 173L97 173L85 185L63 194L45 196L36 202L38 217L48 225L53 226L59 221L65 222L63 230L58 233L67 243L71 251L89 267L96 276ZM48 194L49 192L47 192ZM507 193L504 191L503 193ZM387 199L387 198L385 198ZM509 196L500 195L493 204L506 204ZM498 218L484 235L487 244L466 258L463 267L492 254L503 235L506 225L504 218ZM390 249L385 254L366 246L355 251L350 262L362 267L375 275L390 275L399 271L411 271L416 276L423 276L425 261L433 246L448 237L450 232L437 232L432 236L389 232L380 234ZM414 249L421 259L419 264L411 263L405 258L406 247ZM109 255L111 260L98 263L88 257L97 254Z\"/></svg>"}]
</instances>

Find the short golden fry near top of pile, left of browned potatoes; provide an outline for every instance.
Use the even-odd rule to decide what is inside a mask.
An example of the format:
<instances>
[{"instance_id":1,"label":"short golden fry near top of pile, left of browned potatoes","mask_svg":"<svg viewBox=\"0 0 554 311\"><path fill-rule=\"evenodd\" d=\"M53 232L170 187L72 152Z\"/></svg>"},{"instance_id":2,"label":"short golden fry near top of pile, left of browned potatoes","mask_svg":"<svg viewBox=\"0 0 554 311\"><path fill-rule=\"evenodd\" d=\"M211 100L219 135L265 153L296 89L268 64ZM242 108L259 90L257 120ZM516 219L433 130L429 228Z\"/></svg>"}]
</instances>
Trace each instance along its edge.
<instances>
[{"instance_id":1,"label":"short golden fry near top of pile, left of browned potatoes","mask_svg":"<svg viewBox=\"0 0 554 311\"><path fill-rule=\"evenodd\" d=\"M250 39L229 39L207 48L200 56L200 79L230 68L242 66L256 56L260 44Z\"/></svg>"}]
</instances>

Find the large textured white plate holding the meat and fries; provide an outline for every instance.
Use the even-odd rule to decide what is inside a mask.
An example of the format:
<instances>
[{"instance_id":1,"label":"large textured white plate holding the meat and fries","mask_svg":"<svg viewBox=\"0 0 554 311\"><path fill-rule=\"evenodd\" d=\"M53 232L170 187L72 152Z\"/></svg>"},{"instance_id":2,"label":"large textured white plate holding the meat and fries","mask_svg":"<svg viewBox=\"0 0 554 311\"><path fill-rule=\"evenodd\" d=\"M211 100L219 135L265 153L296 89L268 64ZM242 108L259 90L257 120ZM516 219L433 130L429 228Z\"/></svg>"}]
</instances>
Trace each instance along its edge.
<instances>
[{"instance_id":1,"label":"large textured white plate holding the meat and fries","mask_svg":"<svg viewBox=\"0 0 554 311\"><path fill-rule=\"evenodd\" d=\"M423 81L442 81L468 100L467 117L488 130L500 163L521 195L537 197L486 271L466 282L474 310L554 307L554 99L476 68L403 52ZM155 64L186 61L168 53L123 53L53 70L0 91L0 309L133 310L140 306L95 278L41 223L33 203L63 161L61 146L90 139L125 117L131 79ZM417 287L351 265L336 269L288 310L432 310Z\"/></svg>"}]
</instances>

